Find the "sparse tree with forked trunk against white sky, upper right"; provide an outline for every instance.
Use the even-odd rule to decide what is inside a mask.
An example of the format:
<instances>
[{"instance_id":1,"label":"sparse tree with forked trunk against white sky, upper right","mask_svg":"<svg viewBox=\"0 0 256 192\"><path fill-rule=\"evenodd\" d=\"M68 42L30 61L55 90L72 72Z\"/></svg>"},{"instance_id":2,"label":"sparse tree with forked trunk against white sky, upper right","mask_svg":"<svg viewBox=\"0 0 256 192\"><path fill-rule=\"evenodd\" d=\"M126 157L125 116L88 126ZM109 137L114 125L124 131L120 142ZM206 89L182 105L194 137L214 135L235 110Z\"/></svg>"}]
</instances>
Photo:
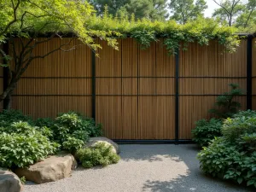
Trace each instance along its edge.
<instances>
[{"instance_id":1,"label":"sparse tree with forked trunk against white sky, upper right","mask_svg":"<svg viewBox=\"0 0 256 192\"><path fill-rule=\"evenodd\" d=\"M219 20L226 21L229 26L232 26L236 22L236 18L246 9L245 4L242 4L241 0L213 1L217 3L220 8L215 9L212 16Z\"/></svg>"}]
</instances>

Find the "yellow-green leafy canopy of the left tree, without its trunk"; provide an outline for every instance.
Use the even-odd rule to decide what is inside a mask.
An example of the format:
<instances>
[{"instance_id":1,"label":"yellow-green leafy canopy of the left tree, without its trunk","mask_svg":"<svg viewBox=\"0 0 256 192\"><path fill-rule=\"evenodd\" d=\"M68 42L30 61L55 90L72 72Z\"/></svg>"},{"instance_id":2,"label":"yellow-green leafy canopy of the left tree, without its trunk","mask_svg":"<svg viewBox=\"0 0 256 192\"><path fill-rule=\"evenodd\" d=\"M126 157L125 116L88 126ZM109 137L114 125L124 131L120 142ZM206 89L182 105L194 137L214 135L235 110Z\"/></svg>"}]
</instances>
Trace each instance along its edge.
<instances>
[{"instance_id":1,"label":"yellow-green leafy canopy of the left tree, without its trunk","mask_svg":"<svg viewBox=\"0 0 256 192\"><path fill-rule=\"evenodd\" d=\"M99 48L94 36L107 40L113 47L116 45L115 39L107 37L112 32L84 27L86 20L95 14L86 1L2 0L0 8L0 43L6 40L7 34L35 38L40 33L73 32L91 49Z\"/></svg>"}]
</instances>

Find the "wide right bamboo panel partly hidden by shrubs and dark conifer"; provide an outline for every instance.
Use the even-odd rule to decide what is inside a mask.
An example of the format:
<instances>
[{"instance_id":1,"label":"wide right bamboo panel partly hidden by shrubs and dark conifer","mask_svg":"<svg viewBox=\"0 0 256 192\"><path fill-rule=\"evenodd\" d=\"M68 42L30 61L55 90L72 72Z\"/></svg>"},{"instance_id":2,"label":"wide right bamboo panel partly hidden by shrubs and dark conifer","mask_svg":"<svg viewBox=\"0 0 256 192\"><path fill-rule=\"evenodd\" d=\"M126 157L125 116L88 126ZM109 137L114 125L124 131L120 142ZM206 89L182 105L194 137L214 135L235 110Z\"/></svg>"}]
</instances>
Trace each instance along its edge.
<instances>
[{"instance_id":1,"label":"wide right bamboo panel partly hidden by shrubs and dark conifer","mask_svg":"<svg viewBox=\"0 0 256 192\"><path fill-rule=\"evenodd\" d=\"M247 41L242 40L236 53L224 53L217 42L209 46L189 44L180 51L179 61L179 138L190 139L195 121L208 119L217 95L229 91L228 84L247 88ZM246 109L246 96L237 96Z\"/></svg>"}]
</instances>

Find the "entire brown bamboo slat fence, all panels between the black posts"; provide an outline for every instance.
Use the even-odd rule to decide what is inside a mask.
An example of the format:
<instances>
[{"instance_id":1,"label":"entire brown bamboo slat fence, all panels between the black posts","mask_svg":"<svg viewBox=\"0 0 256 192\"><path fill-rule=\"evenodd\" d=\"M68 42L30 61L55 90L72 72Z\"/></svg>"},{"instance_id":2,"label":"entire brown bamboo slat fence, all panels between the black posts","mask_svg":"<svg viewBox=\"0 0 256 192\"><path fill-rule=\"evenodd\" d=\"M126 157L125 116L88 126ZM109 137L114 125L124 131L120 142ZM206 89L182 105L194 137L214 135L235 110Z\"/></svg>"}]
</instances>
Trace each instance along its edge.
<instances>
[{"instance_id":1,"label":"entire brown bamboo slat fence, all panels between the black posts","mask_svg":"<svg viewBox=\"0 0 256 192\"><path fill-rule=\"evenodd\" d=\"M35 54L42 55L69 40L55 38L40 45ZM112 139L174 139L176 78L179 139L191 139L195 121L211 117L208 110L216 96L229 90L228 84L240 84L244 90L247 87L246 40L241 41L234 54L224 53L217 42L209 46L189 44L188 50L179 52L178 77L175 57L167 54L162 40L141 49L132 38L119 39L119 51L96 41L102 45L95 66L96 121L102 123L106 137ZM80 43L75 40L72 44ZM55 117L69 110L91 116L91 63L91 51L85 45L33 61L15 90L13 107L34 118ZM253 54L253 77L255 68ZM3 77L3 71L0 73ZM246 96L236 99L245 109Z\"/></svg>"}]
</instances>

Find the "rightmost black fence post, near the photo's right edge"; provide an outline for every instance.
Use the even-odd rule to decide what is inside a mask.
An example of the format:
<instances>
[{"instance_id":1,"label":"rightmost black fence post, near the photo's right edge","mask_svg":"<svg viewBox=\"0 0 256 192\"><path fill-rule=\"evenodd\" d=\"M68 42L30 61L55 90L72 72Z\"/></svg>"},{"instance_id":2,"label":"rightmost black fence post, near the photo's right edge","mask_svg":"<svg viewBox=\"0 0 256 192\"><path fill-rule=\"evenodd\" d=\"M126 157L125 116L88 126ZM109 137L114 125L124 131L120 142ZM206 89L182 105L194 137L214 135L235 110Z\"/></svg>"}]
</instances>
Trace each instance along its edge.
<instances>
[{"instance_id":1,"label":"rightmost black fence post, near the photo's right edge","mask_svg":"<svg viewBox=\"0 0 256 192\"><path fill-rule=\"evenodd\" d=\"M253 59L252 59L252 37L247 38L247 109L252 109L252 95L253 95L253 79L252 79L252 69L253 69Z\"/></svg>"}]
</instances>

